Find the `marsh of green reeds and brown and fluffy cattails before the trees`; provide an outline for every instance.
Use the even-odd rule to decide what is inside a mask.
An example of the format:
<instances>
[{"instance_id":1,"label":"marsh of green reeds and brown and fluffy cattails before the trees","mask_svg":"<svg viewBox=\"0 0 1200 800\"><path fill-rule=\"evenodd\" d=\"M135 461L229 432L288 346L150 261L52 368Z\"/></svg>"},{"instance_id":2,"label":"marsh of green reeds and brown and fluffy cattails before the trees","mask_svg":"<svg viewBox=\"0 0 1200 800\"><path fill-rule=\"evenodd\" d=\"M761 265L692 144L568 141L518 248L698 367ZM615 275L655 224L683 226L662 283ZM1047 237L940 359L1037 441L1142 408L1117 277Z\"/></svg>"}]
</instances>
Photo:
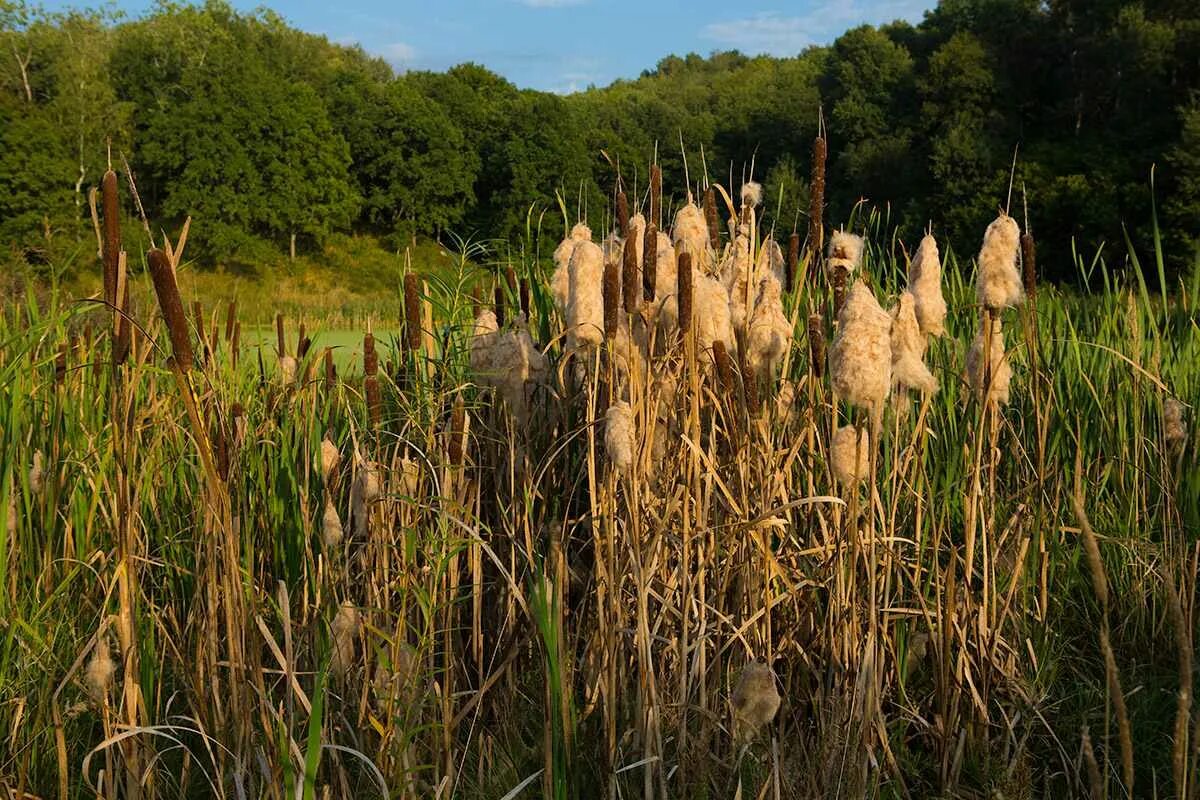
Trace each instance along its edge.
<instances>
[{"instance_id":1,"label":"marsh of green reeds and brown and fluffy cattails before the trees","mask_svg":"<svg viewBox=\"0 0 1200 800\"><path fill-rule=\"evenodd\" d=\"M6 303L0 786L1193 796L1200 270L660 203L654 263L618 205L607 249L409 272L371 341L197 318L160 251L127 339Z\"/></svg>"}]
</instances>

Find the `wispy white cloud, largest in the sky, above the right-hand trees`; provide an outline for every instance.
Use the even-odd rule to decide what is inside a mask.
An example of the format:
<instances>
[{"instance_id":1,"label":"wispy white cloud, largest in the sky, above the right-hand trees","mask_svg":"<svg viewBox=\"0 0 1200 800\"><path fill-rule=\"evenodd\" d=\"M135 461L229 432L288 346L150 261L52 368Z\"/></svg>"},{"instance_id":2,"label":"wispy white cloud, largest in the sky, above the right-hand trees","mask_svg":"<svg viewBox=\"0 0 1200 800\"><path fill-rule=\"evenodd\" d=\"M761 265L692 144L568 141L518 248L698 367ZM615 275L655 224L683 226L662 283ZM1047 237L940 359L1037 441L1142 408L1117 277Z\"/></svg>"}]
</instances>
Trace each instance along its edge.
<instances>
[{"instance_id":1,"label":"wispy white cloud, largest in the sky, above the right-hand trees","mask_svg":"<svg viewBox=\"0 0 1200 800\"><path fill-rule=\"evenodd\" d=\"M925 0L834 0L817 11L785 17L768 11L706 25L700 35L722 47L745 53L793 55L810 44L828 42L844 30L863 23L894 19L918 20L930 6Z\"/></svg>"}]
</instances>

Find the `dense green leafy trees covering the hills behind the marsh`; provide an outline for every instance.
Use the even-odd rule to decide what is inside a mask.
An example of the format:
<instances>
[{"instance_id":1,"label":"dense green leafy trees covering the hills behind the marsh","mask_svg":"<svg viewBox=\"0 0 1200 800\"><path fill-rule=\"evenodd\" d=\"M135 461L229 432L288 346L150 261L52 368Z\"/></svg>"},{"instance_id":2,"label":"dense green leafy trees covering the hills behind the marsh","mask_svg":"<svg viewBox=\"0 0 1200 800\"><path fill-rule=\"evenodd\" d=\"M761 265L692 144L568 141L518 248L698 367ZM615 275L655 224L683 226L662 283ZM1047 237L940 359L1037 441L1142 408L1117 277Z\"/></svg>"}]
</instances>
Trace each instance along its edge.
<instances>
[{"instance_id":1,"label":"dense green leafy trees covering the hills behind the marsh","mask_svg":"<svg viewBox=\"0 0 1200 800\"><path fill-rule=\"evenodd\" d=\"M1156 219L1176 269L1200 247L1194 0L942 0L917 25L668 56L569 96L473 64L397 74L223 1L126 19L0 0L0 252L25 260L86 242L112 162L155 223L197 219L210 261L335 231L515 239L559 197L601 228L618 169L644 190L653 157L676 201L706 174L761 180L790 233L820 119L835 223L865 199L906 239L932 225L970 252L1012 182L1051 277L1100 242L1148 248Z\"/></svg>"}]
</instances>

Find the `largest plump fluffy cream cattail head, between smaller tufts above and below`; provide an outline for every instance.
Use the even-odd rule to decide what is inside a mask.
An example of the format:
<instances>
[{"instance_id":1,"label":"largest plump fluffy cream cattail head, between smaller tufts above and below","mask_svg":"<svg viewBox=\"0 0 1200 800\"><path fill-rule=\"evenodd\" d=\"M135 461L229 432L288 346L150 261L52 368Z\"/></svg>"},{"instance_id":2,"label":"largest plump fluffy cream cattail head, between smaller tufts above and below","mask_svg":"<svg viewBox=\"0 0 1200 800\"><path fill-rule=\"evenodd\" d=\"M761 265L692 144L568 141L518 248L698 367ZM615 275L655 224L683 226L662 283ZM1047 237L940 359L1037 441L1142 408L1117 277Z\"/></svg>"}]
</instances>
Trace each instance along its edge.
<instances>
[{"instance_id":1,"label":"largest plump fluffy cream cattail head, between smaller tufts above and below","mask_svg":"<svg viewBox=\"0 0 1200 800\"><path fill-rule=\"evenodd\" d=\"M851 287L838 314L829 362L838 395L878 415L892 389L892 317L862 281Z\"/></svg>"}]
</instances>

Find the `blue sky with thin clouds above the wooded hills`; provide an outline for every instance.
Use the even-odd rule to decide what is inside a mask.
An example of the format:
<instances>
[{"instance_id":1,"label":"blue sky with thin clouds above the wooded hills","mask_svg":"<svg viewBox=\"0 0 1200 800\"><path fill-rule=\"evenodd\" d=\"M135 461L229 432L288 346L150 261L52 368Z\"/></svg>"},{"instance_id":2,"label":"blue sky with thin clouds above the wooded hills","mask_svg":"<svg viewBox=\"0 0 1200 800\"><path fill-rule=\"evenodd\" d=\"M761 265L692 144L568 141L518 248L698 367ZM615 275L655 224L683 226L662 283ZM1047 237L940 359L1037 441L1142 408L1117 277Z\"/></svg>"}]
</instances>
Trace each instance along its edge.
<instances>
[{"instance_id":1,"label":"blue sky with thin clouds above the wooded hills","mask_svg":"<svg viewBox=\"0 0 1200 800\"><path fill-rule=\"evenodd\" d=\"M739 49L792 55L860 23L919 22L936 0L234 0L266 5L293 25L358 42L397 68L475 61L522 88L577 91L635 78L664 55ZM44 2L49 8L89 0ZM148 0L116 0L138 16Z\"/></svg>"}]
</instances>

